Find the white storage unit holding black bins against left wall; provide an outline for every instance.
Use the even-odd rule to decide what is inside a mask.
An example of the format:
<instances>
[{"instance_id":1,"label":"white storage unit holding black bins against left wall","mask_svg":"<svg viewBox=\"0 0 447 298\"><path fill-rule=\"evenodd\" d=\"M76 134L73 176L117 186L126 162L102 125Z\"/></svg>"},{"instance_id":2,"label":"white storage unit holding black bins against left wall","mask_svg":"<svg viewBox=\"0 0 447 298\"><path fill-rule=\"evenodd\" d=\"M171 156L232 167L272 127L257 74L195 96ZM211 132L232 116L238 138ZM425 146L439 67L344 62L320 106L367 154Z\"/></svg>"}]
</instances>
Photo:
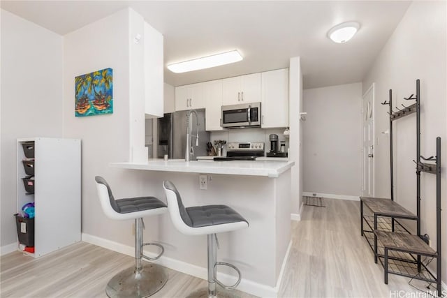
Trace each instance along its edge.
<instances>
[{"instance_id":1,"label":"white storage unit holding black bins against left wall","mask_svg":"<svg viewBox=\"0 0 447 298\"><path fill-rule=\"evenodd\" d=\"M34 147L34 193L25 191L22 181L27 177L23 143ZM17 211L35 203L35 258L81 240L80 144L49 137L17 140Z\"/></svg>"}]
</instances>

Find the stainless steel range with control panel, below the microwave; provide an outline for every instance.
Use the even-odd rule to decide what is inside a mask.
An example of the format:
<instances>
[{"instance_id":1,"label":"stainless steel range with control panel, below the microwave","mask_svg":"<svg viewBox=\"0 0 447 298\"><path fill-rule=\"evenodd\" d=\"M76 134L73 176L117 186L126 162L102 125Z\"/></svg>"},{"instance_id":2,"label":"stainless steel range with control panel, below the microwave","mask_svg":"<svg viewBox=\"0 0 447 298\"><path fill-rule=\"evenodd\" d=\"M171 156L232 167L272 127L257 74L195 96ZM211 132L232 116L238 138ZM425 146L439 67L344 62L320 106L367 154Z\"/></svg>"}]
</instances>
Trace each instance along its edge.
<instances>
[{"instance_id":1,"label":"stainless steel range with control panel, below the microwave","mask_svg":"<svg viewBox=\"0 0 447 298\"><path fill-rule=\"evenodd\" d=\"M214 157L214 161L255 161L264 156L263 142L228 143L226 156Z\"/></svg>"}]
</instances>

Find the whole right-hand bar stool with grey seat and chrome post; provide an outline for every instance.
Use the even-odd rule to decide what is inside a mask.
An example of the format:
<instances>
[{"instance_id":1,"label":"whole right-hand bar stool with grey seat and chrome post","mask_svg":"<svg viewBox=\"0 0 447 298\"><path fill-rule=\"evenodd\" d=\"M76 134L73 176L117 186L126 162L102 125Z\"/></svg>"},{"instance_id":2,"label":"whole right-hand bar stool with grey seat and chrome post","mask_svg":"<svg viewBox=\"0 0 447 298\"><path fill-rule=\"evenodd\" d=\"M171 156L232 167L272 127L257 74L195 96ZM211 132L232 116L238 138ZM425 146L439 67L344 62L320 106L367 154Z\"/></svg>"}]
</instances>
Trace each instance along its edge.
<instances>
[{"instance_id":1,"label":"whole right-hand bar stool with grey seat and chrome post","mask_svg":"<svg viewBox=\"0 0 447 298\"><path fill-rule=\"evenodd\" d=\"M237 267L226 262L217 262L216 246L219 246L216 233L230 232L247 228L249 223L234 209L226 205L205 205L185 208L177 188L171 181L163 181L163 188L168 200L168 210L173 224L179 232L189 235L207 234L208 239L208 288L198 290L189 297L227 296L228 293L216 289L216 283L226 290L233 290L241 281ZM217 265L235 269L238 278L234 285L224 285L217 279Z\"/></svg>"}]
</instances>

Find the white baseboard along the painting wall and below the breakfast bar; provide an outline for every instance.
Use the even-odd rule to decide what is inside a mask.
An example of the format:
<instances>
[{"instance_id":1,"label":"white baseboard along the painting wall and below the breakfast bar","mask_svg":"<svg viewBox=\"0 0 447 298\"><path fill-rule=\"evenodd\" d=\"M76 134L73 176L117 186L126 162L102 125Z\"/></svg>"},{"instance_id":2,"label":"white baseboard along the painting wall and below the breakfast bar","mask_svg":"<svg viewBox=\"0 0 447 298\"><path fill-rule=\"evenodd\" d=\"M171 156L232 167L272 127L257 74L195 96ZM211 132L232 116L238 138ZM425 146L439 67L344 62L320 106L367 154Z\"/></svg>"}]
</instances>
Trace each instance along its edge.
<instances>
[{"instance_id":1,"label":"white baseboard along the painting wall and below the breakfast bar","mask_svg":"<svg viewBox=\"0 0 447 298\"><path fill-rule=\"evenodd\" d=\"M116 251L117 253L123 253L124 255L130 255L133 257L135 250L133 246L127 246L124 244L117 243L115 241L110 241L108 239L103 239L100 237L96 237L90 234L82 233L81 236L82 241L85 241L89 244L94 244L96 246L101 246L103 248L107 248L110 251ZM286 256L284 257L283 265L281 267L281 271L279 274L279 278L277 281L277 285L275 287L271 287L269 285L263 285L261 283L256 283L254 281L250 281L248 279L242 278L242 281L237 286L237 290L242 292L247 292L251 295L255 295L258 297L272 297L276 298L278 296L279 285L281 285L282 276L284 275L284 268L286 267L286 260L288 260L288 255L290 254L291 244L289 243ZM144 251L145 255L149 257L155 257L155 253L151 253L149 251ZM205 256L204 256L205 258ZM144 259L143 259L144 260ZM159 260L154 261L154 263L159 264L163 267L173 269L175 271L182 272L184 274L189 274L191 276L195 276L198 278L202 278L207 280L207 269L203 267L199 267L196 265L191 265L186 262L182 262L179 260L175 260L173 258L168 258L162 256ZM230 276L229 274L219 273L219 280L223 283L233 284L236 281L234 276Z\"/></svg>"}]
</instances>

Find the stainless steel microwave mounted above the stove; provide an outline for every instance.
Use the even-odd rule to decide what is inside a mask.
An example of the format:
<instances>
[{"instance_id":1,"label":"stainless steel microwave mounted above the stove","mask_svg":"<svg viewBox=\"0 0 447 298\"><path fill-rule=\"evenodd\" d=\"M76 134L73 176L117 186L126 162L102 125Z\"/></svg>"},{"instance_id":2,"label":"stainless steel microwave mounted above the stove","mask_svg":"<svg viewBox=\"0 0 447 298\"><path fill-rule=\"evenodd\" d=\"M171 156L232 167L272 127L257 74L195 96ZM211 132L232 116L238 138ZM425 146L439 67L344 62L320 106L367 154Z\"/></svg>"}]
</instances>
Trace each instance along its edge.
<instances>
[{"instance_id":1,"label":"stainless steel microwave mounted above the stove","mask_svg":"<svg viewBox=\"0 0 447 298\"><path fill-rule=\"evenodd\" d=\"M243 128L261 126L261 103L222 105L222 127Z\"/></svg>"}]
</instances>

